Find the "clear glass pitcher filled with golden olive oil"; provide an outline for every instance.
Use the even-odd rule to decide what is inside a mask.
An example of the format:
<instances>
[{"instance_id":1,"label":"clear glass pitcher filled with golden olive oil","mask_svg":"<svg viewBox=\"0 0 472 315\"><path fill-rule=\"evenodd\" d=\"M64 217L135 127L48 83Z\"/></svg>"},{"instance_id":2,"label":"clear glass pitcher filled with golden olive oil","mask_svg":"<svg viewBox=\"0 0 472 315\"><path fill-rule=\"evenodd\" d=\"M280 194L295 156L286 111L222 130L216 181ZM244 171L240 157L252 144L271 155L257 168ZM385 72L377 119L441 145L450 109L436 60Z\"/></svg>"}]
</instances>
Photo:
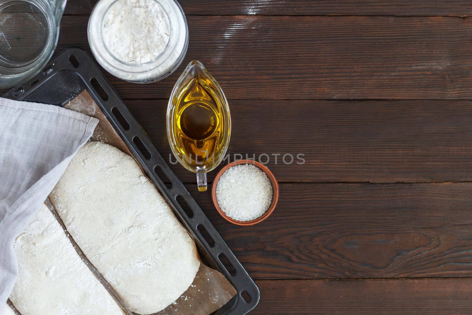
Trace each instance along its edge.
<instances>
[{"instance_id":1,"label":"clear glass pitcher filled with golden olive oil","mask_svg":"<svg viewBox=\"0 0 472 315\"><path fill-rule=\"evenodd\" d=\"M206 191L206 173L223 160L230 133L225 94L200 61L190 62L170 94L167 136L178 162L197 174L199 191Z\"/></svg>"}]
</instances>

